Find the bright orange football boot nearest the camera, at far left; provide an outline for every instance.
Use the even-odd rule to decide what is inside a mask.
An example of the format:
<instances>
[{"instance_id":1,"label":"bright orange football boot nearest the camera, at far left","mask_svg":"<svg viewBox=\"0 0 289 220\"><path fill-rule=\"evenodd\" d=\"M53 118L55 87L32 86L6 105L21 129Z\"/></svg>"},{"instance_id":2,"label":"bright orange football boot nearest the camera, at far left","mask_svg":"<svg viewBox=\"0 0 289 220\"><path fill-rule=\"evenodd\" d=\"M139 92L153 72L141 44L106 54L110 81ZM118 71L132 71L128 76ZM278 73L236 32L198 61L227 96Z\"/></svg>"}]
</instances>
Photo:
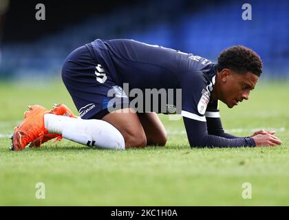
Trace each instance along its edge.
<instances>
[{"instance_id":1,"label":"bright orange football boot nearest the camera, at far left","mask_svg":"<svg viewBox=\"0 0 289 220\"><path fill-rule=\"evenodd\" d=\"M44 107L38 104L29 107L29 111L25 111L25 118L19 124L14 127L14 133L12 139L12 151L22 151L32 140L36 138L43 139L43 135L47 133L44 126L44 115L50 113Z\"/></svg>"}]
</instances>

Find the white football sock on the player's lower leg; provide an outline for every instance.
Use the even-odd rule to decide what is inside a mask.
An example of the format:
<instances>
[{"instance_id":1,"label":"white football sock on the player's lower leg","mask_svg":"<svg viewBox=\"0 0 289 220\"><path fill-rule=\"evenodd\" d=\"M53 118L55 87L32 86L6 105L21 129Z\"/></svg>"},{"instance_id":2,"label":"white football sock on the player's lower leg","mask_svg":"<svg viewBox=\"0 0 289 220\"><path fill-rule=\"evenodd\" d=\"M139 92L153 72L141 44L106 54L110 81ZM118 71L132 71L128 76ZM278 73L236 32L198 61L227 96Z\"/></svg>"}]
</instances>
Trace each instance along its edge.
<instances>
[{"instance_id":1,"label":"white football sock on the player's lower leg","mask_svg":"<svg viewBox=\"0 0 289 220\"><path fill-rule=\"evenodd\" d=\"M125 148L125 139L120 131L103 120L83 120L48 113L44 115L44 124L48 133L58 133L79 144L110 149Z\"/></svg>"}]
</instances>

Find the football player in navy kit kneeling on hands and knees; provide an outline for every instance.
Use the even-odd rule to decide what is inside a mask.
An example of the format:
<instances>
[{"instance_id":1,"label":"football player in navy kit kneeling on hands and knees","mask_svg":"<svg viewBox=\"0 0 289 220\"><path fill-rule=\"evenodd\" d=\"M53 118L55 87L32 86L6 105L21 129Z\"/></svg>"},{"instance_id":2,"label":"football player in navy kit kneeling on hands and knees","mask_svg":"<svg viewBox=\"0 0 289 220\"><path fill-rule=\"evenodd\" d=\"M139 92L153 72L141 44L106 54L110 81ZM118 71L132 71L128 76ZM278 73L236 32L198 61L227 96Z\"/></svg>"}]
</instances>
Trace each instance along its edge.
<instances>
[{"instance_id":1,"label":"football player in navy kit kneeling on hands and knees","mask_svg":"<svg viewBox=\"0 0 289 220\"><path fill-rule=\"evenodd\" d=\"M166 104L182 103L179 113L191 147L277 146L281 140L274 131L236 137L224 132L220 120L218 101L232 108L248 100L261 67L259 56L244 46L229 47L213 63L138 41L97 39L69 54L62 69L63 83L80 118L65 105L51 111L34 105L14 129L12 149L20 151L28 144L40 146L54 137L114 149L164 146L167 133L156 113L168 112L163 108L151 110L145 106L147 102L143 107L149 111L136 111L131 105L133 89L143 94L146 89L181 89L182 96ZM125 91L125 84L129 91Z\"/></svg>"}]
</instances>

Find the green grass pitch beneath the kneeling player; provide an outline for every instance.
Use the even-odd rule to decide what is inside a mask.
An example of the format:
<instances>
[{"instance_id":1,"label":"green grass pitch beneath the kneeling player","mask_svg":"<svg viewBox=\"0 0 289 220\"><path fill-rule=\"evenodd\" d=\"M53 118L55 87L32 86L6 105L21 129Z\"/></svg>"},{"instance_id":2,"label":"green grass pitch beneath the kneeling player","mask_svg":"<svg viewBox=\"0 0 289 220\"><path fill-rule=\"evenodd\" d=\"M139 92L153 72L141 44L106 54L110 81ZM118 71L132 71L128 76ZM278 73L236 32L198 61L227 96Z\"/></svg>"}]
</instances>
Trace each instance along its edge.
<instances>
[{"instance_id":1,"label":"green grass pitch beneath the kneeling player","mask_svg":"<svg viewBox=\"0 0 289 220\"><path fill-rule=\"evenodd\" d=\"M182 120L160 115L169 134L165 147L110 151L63 140L12 152L8 136L29 104L76 109L61 83L0 83L0 205L288 206L288 87L264 81L250 100L220 106L225 131L246 136L275 129L283 141L278 147L191 149ZM38 182L45 199L36 199ZM244 182L252 199L242 198Z\"/></svg>"}]
</instances>

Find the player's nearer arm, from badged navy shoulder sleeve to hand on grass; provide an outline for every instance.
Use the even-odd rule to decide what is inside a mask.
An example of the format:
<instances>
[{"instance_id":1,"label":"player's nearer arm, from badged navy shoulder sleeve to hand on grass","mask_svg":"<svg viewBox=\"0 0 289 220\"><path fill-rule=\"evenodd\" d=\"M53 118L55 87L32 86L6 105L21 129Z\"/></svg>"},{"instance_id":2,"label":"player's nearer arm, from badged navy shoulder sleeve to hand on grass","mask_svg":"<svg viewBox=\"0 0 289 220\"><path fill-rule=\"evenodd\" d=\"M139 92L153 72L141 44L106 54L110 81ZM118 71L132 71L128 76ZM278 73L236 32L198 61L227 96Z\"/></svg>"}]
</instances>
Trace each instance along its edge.
<instances>
[{"instance_id":1,"label":"player's nearer arm, from badged navy shoulder sleeve to hand on grass","mask_svg":"<svg viewBox=\"0 0 289 220\"><path fill-rule=\"evenodd\" d=\"M270 133L257 134L254 137L232 137L230 135L230 138L208 133L205 117L208 101L206 76L202 75L202 72L184 74L180 85L182 88L182 116L191 147L276 146L281 144L281 140ZM224 129L220 129L220 124L216 127L218 129L213 129L213 132L224 135Z\"/></svg>"}]
</instances>

